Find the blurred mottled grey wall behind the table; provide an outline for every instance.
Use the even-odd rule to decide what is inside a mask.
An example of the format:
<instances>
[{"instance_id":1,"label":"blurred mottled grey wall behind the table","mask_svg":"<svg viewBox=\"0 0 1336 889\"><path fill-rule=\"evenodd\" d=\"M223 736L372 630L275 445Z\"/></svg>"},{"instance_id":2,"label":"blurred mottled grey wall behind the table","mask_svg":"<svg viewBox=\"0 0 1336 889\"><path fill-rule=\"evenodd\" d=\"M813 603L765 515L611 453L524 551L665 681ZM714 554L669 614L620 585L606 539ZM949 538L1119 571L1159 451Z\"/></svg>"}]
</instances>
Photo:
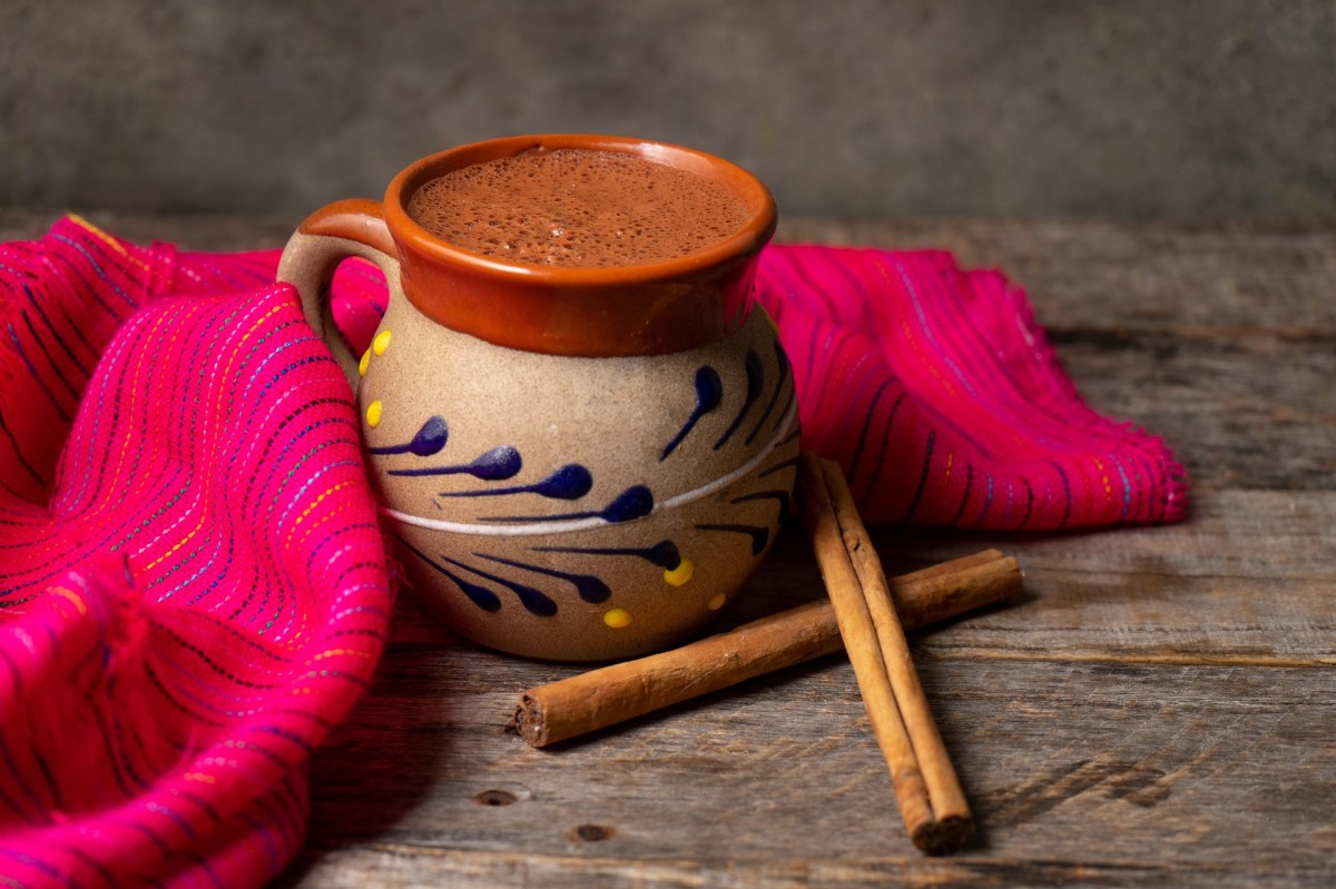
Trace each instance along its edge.
<instances>
[{"instance_id":1,"label":"blurred mottled grey wall behind the table","mask_svg":"<svg viewBox=\"0 0 1336 889\"><path fill-rule=\"evenodd\" d=\"M0 0L0 206L299 214L591 131L794 215L1336 215L1336 0Z\"/></svg>"}]
</instances>

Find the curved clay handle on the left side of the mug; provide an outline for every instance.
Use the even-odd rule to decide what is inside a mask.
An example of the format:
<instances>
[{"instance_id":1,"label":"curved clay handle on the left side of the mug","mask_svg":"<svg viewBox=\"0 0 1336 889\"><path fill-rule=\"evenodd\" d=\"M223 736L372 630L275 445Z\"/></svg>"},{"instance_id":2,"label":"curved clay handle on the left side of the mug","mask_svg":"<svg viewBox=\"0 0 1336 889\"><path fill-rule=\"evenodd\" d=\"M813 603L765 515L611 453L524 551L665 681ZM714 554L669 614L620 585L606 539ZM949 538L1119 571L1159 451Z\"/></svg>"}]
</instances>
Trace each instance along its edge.
<instances>
[{"instance_id":1,"label":"curved clay handle on the left side of the mug","mask_svg":"<svg viewBox=\"0 0 1336 889\"><path fill-rule=\"evenodd\" d=\"M385 224L385 206L351 198L321 207L297 227L278 262L278 280L297 288L306 323L325 340L334 360L357 391L358 359L334 323L330 282L349 256L369 260L385 275L387 292L399 287L399 260Z\"/></svg>"}]
</instances>

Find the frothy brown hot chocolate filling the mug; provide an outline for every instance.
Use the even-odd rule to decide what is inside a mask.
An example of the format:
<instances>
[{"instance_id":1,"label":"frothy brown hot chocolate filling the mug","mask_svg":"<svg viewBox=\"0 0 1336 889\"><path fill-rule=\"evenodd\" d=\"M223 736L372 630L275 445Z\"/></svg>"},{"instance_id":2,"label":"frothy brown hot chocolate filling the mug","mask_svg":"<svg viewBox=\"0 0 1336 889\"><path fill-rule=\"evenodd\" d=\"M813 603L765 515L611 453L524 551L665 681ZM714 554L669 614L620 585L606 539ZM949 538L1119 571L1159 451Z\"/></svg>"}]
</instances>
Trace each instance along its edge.
<instances>
[{"instance_id":1,"label":"frothy brown hot chocolate filling the mug","mask_svg":"<svg viewBox=\"0 0 1336 889\"><path fill-rule=\"evenodd\" d=\"M752 216L720 182L587 148L536 148L448 172L418 188L407 211L476 254L587 268L696 254Z\"/></svg>"}]
</instances>

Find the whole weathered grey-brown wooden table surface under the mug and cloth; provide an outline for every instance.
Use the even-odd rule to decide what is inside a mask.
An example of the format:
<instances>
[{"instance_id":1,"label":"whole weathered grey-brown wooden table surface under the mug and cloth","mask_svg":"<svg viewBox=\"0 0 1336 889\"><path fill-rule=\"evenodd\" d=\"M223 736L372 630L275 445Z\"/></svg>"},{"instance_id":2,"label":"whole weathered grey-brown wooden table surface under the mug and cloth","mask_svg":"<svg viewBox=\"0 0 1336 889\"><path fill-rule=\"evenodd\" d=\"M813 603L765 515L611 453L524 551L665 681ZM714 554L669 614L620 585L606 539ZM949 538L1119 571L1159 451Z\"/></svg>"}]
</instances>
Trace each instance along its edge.
<instances>
[{"instance_id":1,"label":"whole weathered grey-brown wooden table surface under the mug and cloth","mask_svg":"<svg viewBox=\"0 0 1336 889\"><path fill-rule=\"evenodd\" d=\"M277 246L295 222L90 216L198 248ZM0 234L52 219L4 212ZM911 639L975 842L908 844L843 657L540 752L506 731L516 697L576 669L472 647L405 598L281 884L1336 885L1336 224L780 235L1001 266L1092 406L1162 434L1192 477L1170 527L876 533L891 569L997 546L1026 571L1021 601ZM822 595L802 534L751 587L732 621Z\"/></svg>"}]
</instances>

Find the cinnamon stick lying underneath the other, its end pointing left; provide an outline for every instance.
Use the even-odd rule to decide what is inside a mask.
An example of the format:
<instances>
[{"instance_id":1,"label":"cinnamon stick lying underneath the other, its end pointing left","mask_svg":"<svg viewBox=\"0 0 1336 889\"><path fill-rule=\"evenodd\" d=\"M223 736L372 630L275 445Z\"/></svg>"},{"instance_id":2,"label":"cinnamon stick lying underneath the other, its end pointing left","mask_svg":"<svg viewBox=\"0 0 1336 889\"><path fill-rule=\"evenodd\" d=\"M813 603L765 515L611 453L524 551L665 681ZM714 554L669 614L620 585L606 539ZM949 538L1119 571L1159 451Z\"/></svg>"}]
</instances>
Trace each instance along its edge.
<instances>
[{"instance_id":1,"label":"cinnamon stick lying underneath the other, its end pointing left","mask_svg":"<svg viewBox=\"0 0 1336 889\"><path fill-rule=\"evenodd\" d=\"M919 627L1010 598L1021 587L1014 558L985 550L887 581L906 627ZM616 725L745 679L839 651L828 599L744 623L671 651L529 689L513 726L530 746Z\"/></svg>"}]
</instances>

